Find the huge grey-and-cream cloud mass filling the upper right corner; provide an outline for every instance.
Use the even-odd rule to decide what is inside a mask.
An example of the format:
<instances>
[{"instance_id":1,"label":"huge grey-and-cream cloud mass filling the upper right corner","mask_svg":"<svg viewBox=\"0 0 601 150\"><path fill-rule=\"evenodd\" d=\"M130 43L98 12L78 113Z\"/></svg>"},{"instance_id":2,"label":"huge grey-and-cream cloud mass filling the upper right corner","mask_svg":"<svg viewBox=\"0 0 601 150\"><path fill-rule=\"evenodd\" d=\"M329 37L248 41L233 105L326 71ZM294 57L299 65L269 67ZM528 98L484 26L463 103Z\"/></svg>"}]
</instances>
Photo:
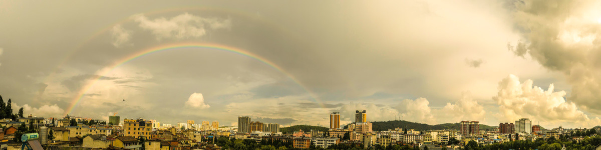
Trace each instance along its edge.
<instances>
[{"instance_id":1,"label":"huge grey-and-cream cloud mass filling the upper right corner","mask_svg":"<svg viewBox=\"0 0 601 150\"><path fill-rule=\"evenodd\" d=\"M601 114L599 8L598 1L529 0L515 1L510 8L522 37L510 50L522 57L527 53L543 67L565 74L572 85L569 100L597 114Z\"/></svg>"}]
</instances>

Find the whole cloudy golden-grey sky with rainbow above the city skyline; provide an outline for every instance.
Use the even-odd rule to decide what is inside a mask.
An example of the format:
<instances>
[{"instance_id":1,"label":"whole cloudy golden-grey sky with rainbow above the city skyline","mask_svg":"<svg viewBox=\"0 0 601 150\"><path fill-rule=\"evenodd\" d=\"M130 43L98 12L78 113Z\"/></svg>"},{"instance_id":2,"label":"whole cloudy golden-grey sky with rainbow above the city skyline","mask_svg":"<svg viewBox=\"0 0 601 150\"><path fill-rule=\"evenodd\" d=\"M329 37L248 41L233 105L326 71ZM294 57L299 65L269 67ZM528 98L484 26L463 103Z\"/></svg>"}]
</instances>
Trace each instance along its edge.
<instances>
[{"instance_id":1,"label":"whole cloudy golden-grey sky with rainbow above the city skyline","mask_svg":"<svg viewBox=\"0 0 601 150\"><path fill-rule=\"evenodd\" d=\"M598 1L0 1L0 95L108 119L601 125ZM600 38L601 39L601 38Z\"/></svg>"}]
</instances>

